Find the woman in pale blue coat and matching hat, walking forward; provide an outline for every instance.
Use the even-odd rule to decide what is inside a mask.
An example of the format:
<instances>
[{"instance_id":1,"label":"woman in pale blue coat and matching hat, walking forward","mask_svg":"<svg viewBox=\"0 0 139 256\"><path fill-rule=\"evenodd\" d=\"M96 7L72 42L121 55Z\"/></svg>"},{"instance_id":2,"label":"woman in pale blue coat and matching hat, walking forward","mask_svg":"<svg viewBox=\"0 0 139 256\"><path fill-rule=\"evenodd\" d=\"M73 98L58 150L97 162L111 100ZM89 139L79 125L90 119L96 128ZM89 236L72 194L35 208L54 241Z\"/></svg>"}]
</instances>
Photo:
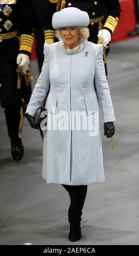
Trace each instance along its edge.
<instances>
[{"instance_id":1,"label":"woman in pale blue coat and matching hat, walking forward","mask_svg":"<svg viewBox=\"0 0 139 256\"><path fill-rule=\"evenodd\" d=\"M45 105L47 130L42 176L47 183L62 184L68 191L71 199L68 238L77 241L81 237L87 184L105 180L98 100L107 137L115 133L115 115L105 78L103 45L87 41L89 15L77 8L65 8L53 15L52 25L60 41L45 43L45 61L26 116L31 127L38 129L34 115L50 84Z\"/></svg>"}]
</instances>

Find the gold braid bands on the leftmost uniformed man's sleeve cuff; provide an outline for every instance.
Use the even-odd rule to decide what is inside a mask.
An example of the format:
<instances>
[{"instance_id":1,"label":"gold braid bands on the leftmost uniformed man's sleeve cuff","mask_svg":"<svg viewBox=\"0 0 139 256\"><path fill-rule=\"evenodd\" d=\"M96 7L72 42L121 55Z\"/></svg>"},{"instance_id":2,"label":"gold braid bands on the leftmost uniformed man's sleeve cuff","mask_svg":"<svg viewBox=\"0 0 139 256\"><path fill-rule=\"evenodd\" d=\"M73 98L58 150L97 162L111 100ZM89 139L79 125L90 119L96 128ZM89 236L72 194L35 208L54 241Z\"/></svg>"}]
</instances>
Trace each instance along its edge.
<instances>
[{"instance_id":1,"label":"gold braid bands on the leftmost uniformed man's sleeve cuff","mask_svg":"<svg viewBox=\"0 0 139 256\"><path fill-rule=\"evenodd\" d=\"M34 33L31 35L22 34L20 37L20 51L31 52L31 48L34 41Z\"/></svg>"}]
</instances>

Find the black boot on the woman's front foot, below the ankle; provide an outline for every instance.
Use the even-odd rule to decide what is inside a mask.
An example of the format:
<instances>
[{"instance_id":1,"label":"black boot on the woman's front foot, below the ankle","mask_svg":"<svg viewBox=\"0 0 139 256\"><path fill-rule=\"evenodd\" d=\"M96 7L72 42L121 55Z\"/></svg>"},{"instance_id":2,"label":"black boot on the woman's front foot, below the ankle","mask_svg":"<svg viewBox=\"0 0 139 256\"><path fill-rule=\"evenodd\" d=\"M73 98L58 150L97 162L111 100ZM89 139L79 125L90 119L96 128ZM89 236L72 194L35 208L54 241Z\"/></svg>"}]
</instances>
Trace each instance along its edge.
<instances>
[{"instance_id":1,"label":"black boot on the woman's front foot, below the ankle","mask_svg":"<svg viewBox=\"0 0 139 256\"><path fill-rule=\"evenodd\" d=\"M81 239L80 224L70 224L68 239L72 242L75 242Z\"/></svg>"}]
</instances>

